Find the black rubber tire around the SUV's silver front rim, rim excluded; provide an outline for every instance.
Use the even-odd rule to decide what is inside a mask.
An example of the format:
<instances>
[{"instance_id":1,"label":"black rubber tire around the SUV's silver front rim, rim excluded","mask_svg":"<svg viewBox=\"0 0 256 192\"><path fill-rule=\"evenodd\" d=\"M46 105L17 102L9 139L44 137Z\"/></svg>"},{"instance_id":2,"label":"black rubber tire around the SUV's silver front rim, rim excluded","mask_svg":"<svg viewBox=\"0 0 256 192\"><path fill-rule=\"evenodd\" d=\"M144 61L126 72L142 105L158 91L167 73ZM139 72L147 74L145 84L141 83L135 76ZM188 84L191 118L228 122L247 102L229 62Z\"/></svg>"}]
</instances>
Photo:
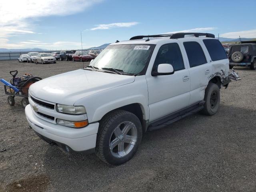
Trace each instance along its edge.
<instances>
[{"instance_id":1,"label":"black rubber tire around the SUV's silver front rim, rim excluded","mask_svg":"<svg viewBox=\"0 0 256 192\"><path fill-rule=\"evenodd\" d=\"M128 152L128 154L125 154L123 157L115 157L110 151L110 142L114 134L113 133L114 130L116 130L118 126L120 128L122 123L124 122L130 122L133 126L132 128L133 129L135 128L137 130L136 142L132 145L133 147ZM127 132L127 135L128 135L128 132ZM122 136L125 137L126 134L122 133ZM114 110L113 112L110 112L109 114L104 116L104 118L102 118L102 120L100 121L100 126L97 134L97 141L96 141L96 154L103 162L107 164L112 164L112 165L123 164L134 156L134 154L138 150L138 146L141 142L141 139L142 139L142 126L138 117L128 111ZM118 140L118 142L124 142L124 140L120 139L120 141ZM118 145L116 145L116 147L119 147ZM130 145L130 144L127 144L127 145ZM127 145L126 147L124 146L124 148L127 149ZM112 151L114 151L114 148L112 149Z\"/></svg>"}]
</instances>

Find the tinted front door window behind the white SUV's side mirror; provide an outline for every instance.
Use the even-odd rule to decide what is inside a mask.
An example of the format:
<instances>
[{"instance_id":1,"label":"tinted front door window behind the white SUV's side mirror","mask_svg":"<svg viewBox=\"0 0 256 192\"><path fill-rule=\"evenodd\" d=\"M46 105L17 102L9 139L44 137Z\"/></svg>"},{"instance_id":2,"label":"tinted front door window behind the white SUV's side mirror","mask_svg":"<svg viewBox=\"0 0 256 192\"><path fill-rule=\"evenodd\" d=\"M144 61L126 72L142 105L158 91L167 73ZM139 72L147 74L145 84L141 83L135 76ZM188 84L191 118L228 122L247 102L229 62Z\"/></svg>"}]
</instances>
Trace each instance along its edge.
<instances>
[{"instance_id":1,"label":"tinted front door window behind the white SUV's side mirror","mask_svg":"<svg viewBox=\"0 0 256 192\"><path fill-rule=\"evenodd\" d=\"M160 47L154 62L154 70L159 64L172 64L174 71L184 69L180 47L177 43L165 44Z\"/></svg>"}]
</instances>

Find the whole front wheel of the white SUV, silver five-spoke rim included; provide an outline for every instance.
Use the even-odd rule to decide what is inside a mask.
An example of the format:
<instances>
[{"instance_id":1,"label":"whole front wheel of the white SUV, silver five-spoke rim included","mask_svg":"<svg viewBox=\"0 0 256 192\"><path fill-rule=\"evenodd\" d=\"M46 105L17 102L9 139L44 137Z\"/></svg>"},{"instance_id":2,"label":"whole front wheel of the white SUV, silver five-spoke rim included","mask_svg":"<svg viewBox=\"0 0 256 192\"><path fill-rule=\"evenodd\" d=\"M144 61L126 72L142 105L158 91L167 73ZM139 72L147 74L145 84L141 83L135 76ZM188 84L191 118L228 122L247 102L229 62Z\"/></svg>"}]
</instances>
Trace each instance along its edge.
<instances>
[{"instance_id":1,"label":"whole front wheel of the white SUV, silver five-spoke rim included","mask_svg":"<svg viewBox=\"0 0 256 192\"><path fill-rule=\"evenodd\" d=\"M114 110L100 121L96 154L107 164L123 164L134 156L141 139L142 126L138 117L128 111Z\"/></svg>"}]
</instances>

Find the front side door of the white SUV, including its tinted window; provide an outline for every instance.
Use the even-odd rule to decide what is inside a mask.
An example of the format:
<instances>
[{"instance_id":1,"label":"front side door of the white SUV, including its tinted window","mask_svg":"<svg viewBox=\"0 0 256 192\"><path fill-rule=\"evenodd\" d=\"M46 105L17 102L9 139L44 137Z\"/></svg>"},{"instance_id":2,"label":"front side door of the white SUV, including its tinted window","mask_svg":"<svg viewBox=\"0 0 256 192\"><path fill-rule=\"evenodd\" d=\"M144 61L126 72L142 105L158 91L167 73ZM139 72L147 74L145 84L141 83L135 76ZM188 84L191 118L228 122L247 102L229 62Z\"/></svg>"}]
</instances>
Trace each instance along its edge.
<instances>
[{"instance_id":1,"label":"front side door of the white SUV, including its tinted window","mask_svg":"<svg viewBox=\"0 0 256 192\"><path fill-rule=\"evenodd\" d=\"M150 122L186 108L190 100L190 76L178 43L162 45L152 70L171 64L174 74L147 76Z\"/></svg>"}]
</instances>

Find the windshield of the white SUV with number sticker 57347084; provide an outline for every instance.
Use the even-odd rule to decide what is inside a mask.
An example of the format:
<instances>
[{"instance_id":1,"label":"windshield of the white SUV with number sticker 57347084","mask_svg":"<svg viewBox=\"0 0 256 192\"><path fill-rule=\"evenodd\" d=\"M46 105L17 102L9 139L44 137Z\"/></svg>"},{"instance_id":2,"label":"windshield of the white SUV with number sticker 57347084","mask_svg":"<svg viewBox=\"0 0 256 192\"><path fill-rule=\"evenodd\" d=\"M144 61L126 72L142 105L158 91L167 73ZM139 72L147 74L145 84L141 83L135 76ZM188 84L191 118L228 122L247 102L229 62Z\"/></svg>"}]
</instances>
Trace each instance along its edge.
<instances>
[{"instance_id":1,"label":"windshield of the white SUV with number sticker 57347084","mask_svg":"<svg viewBox=\"0 0 256 192\"><path fill-rule=\"evenodd\" d=\"M110 45L90 64L101 68L114 68L126 73L138 74L147 65L153 45Z\"/></svg>"}]
</instances>

